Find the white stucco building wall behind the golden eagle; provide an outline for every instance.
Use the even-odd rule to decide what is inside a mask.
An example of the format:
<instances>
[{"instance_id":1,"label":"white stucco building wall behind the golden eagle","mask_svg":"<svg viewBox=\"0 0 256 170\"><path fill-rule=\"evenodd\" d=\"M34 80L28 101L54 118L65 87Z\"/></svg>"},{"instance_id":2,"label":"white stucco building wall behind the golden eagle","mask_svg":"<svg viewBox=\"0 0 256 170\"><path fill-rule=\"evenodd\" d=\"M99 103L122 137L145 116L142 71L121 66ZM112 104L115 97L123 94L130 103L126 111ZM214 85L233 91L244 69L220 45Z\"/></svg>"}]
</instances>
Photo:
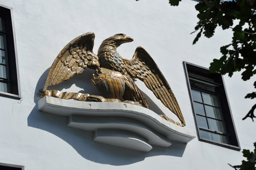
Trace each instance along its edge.
<instances>
[{"instance_id":1,"label":"white stucco building wall behind the golden eagle","mask_svg":"<svg viewBox=\"0 0 256 170\"><path fill-rule=\"evenodd\" d=\"M241 151L201 142L197 137L187 145L154 147L149 153L96 143L91 132L67 127L66 117L37 109L38 89L70 40L94 32L96 53L102 40L125 33L134 37L134 42L120 46L119 54L130 59L136 47L143 46L172 87L186 128L195 130L182 62L209 67L213 58L220 58L220 46L231 41L230 31L217 29L211 39L201 37L192 45L196 3L183 0L180 6L171 7L168 0L0 0L1 5L13 9L22 96L21 100L0 97L0 163L24 165L25 170L216 170L232 169L227 163L240 164ZM99 94L90 84L92 72L86 70L52 89ZM255 103L244 99L253 91L253 80L241 81L240 74L225 75L224 81L241 148L252 149L256 123L241 119ZM143 92L152 98L154 111L172 115L153 93L145 88Z\"/></svg>"}]
</instances>

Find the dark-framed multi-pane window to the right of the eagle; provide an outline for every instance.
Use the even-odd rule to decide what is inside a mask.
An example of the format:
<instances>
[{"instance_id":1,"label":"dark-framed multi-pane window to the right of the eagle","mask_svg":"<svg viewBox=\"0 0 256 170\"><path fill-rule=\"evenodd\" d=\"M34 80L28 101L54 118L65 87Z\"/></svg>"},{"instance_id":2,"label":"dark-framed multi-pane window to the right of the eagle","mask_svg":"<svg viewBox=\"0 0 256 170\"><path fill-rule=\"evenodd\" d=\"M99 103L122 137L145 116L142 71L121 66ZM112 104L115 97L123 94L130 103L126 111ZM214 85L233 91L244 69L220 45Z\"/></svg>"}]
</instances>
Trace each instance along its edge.
<instances>
[{"instance_id":1,"label":"dark-framed multi-pane window to the right of the eagle","mask_svg":"<svg viewBox=\"0 0 256 170\"><path fill-rule=\"evenodd\" d=\"M184 67L199 140L240 150L222 76L187 62Z\"/></svg>"}]
</instances>

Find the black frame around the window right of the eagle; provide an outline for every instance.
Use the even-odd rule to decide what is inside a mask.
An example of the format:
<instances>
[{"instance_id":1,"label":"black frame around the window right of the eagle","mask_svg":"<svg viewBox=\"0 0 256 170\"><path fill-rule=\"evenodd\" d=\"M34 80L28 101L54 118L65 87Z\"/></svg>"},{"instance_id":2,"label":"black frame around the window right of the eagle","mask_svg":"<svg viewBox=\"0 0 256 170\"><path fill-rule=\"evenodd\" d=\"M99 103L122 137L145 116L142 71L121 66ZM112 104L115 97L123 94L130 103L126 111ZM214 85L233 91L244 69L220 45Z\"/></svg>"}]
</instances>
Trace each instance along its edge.
<instances>
[{"instance_id":1,"label":"black frame around the window right of the eagle","mask_svg":"<svg viewBox=\"0 0 256 170\"><path fill-rule=\"evenodd\" d=\"M241 150L241 147L239 144L239 139L238 139L238 136L236 133L236 127L235 127L235 124L233 121L232 112L230 109L230 104L229 104L228 97L227 97L227 91L226 91L226 86L224 83L223 76L219 73L209 72L208 68L205 68L203 66L198 66L196 64L192 64L192 63L189 63L186 61L183 61L183 66L184 66L184 70L185 70L186 82L187 82L187 86L188 86L189 97L190 97L193 115L195 118L195 125L196 125L196 130L198 133L199 141L205 141L205 142L220 145L223 147L232 148L234 150ZM218 96L218 104L219 104L219 107L221 108L220 109L220 111L222 112L221 118L223 118L223 121L224 121L224 126L225 126L224 130L225 130L225 133L227 133L226 135L227 135L228 144L221 143L218 141L213 141L213 140L210 140L207 138L203 138L201 136L201 134L200 134L201 129L203 129L204 131L215 133L215 134L220 134L220 133L213 131L213 130L204 129L204 128L199 127L198 119L196 116L197 114L195 112L195 106L194 106L195 101L193 100L192 91L191 91L192 89L196 89L196 88L190 84L189 77L190 78L191 77L198 78L199 80L201 79L204 82L209 82L209 83L216 84L219 86L218 88L216 88L217 89L216 92L208 91L208 90L201 89L201 88L198 88L198 89L200 89L201 91L205 91L207 93L214 93L215 95Z\"/></svg>"}]
</instances>

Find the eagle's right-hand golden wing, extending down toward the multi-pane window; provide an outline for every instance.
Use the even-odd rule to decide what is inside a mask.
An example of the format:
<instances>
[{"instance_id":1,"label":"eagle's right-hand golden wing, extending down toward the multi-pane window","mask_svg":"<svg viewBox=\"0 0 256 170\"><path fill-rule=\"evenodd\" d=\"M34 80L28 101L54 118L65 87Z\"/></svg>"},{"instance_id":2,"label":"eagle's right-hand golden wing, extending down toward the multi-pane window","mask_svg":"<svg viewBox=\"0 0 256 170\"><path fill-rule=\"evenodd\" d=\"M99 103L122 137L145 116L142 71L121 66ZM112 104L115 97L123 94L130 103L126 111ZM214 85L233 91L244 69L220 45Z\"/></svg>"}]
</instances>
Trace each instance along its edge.
<instances>
[{"instance_id":1,"label":"eagle's right-hand golden wing, extending down toward the multi-pane window","mask_svg":"<svg viewBox=\"0 0 256 170\"><path fill-rule=\"evenodd\" d=\"M169 86L163 73L151 56L142 47L137 47L131 60L123 59L125 68L132 78L138 78L145 83L154 95L169 108L185 126L185 121L181 113L179 104Z\"/></svg>"}]
</instances>

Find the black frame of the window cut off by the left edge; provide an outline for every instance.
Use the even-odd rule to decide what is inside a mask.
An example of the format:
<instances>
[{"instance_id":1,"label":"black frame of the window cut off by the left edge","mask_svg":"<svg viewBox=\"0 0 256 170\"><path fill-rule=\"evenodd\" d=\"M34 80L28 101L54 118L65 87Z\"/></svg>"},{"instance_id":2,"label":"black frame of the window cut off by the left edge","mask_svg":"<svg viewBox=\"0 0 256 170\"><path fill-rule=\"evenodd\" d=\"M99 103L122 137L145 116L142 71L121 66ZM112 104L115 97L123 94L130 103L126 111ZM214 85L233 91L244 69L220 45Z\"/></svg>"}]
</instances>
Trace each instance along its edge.
<instances>
[{"instance_id":1,"label":"black frame of the window cut off by the left edge","mask_svg":"<svg viewBox=\"0 0 256 170\"><path fill-rule=\"evenodd\" d=\"M0 78L0 82L7 83L7 92L0 91L0 96L20 99L20 78L18 72L17 47L15 39L15 29L12 8L0 4L0 16L3 19L4 30L0 31L4 35L7 78Z\"/></svg>"}]
</instances>

